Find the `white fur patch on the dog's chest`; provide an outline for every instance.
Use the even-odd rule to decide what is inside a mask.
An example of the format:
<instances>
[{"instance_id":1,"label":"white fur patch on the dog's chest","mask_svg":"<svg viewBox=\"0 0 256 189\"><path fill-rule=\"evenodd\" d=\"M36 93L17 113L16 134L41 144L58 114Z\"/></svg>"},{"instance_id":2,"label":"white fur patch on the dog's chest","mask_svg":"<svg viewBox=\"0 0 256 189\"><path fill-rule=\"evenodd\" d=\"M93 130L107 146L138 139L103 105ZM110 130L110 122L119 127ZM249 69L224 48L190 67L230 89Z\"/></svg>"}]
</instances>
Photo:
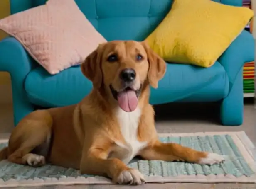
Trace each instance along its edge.
<instances>
[{"instance_id":1,"label":"white fur patch on the dog's chest","mask_svg":"<svg viewBox=\"0 0 256 189\"><path fill-rule=\"evenodd\" d=\"M116 116L120 126L121 133L125 143L115 141L118 148L113 152L112 157L122 160L124 163L130 162L139 150L146 146L146 142L138 141L138 125L140 121L141 110L137 107L133 112L125 112L118 108Z\"/></svg>"}]
</instances>

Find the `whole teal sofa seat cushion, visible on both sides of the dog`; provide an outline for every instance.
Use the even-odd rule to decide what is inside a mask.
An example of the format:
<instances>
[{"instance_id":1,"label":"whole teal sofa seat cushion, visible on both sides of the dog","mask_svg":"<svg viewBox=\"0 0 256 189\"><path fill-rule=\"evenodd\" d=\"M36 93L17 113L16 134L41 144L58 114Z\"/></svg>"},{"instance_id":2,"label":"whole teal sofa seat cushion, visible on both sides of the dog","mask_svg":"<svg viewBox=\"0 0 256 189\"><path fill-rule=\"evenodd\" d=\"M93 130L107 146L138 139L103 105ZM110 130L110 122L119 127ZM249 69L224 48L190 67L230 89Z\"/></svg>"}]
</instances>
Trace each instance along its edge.
<instances>
[{"instance_id":1,"label":"whole teal sofa seat cushion, visible on both sides of the dog","mask_svg":"<svg viewBox=\"0 0 256 189\"><path fill-rule=\"evenodd\" d=\"M90 86L90 87L89 87ZM78 103L92 88L91 82L74 66L57 75L49 75L42 67L30 71L25 90L30 102L42 107L62 107ZM158 89L152 89L151 104L173 101L217 101L229 92L226 72L219 62L211 68L169 64Z\"/></svg>"}]
</instances>

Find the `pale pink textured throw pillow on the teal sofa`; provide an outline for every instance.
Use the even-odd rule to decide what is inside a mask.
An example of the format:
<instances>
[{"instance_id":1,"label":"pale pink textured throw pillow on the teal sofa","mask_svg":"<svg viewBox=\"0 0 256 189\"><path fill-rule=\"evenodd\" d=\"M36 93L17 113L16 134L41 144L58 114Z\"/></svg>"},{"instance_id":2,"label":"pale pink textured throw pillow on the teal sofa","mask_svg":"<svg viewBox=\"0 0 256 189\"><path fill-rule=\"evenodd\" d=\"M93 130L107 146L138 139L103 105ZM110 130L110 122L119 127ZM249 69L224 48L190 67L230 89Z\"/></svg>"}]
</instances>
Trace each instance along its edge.
<instances>
[{"instance_id":1,"label":"pale pink textured throw pillow on the teal sofa","mask_svg":"<svg viewBox=\"0 0 256 189\"><path fill-rule=\"evenodd\" d=\"M74 0L48 0L1 19L0 29L20 41L50 74L81 63L106 42Z\"/></svg>"}]
</instances>

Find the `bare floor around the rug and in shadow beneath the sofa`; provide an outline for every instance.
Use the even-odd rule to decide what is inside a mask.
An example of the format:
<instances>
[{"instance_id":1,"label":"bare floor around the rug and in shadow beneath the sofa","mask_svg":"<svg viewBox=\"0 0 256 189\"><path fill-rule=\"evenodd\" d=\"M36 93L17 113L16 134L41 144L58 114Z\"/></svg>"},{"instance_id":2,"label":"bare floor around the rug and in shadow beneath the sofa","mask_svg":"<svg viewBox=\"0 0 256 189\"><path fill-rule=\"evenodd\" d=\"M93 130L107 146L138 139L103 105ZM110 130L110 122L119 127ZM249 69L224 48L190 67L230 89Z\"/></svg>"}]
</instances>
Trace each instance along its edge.
<instances>
[{"instance_id":1,"label":"bare floor around the rug and in shadow beneath the sofa","mask_svg":"<svg viewBox=\"0 0 256 189\"><path fill-rule=\"evenodd\" d=\"M248 101L248 102L247 102ZM190 133L209 131L245 131L256 144L256 109L252 100L246 100L244 123L242 126L222 126L219 124L219 107L216 104L167 104L155 107L156 128L159 133ZM8 138L13 128L12 107L0 106L0 139ZM144 184L138 189L256 189L255 184L196 184L169 183ZM18 187L24 188L24 187ZM25 187L27 188L27 187ZM33 187L34 188L34 187ZM37 189L130 189L132 186L91 185L91 186L52 186Z\"/></svg>"}]
</instances>

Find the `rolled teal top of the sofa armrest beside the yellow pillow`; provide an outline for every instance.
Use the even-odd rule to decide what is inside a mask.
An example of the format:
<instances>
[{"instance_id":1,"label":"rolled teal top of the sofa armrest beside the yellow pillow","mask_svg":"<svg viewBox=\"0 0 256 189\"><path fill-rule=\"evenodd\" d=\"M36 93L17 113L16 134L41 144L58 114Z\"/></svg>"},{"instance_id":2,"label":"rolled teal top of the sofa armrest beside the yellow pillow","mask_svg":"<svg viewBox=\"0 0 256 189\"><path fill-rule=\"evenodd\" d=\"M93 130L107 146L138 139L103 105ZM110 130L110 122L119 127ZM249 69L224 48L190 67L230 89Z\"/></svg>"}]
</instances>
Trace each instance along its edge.
<instances>
[{"instance_id":1,"label":"rolled teal top of the sofa armrest beside the yellow pillow","mask_svg":"<svg viewBox=\"0 0 256 189\"><path fill-rule=\"evenodd\" d=\"M226 70L231 86L244 63L254 61L254 49L252 34L244 30L219 57L218 61Z\"/></svg>"}]
</instances>

